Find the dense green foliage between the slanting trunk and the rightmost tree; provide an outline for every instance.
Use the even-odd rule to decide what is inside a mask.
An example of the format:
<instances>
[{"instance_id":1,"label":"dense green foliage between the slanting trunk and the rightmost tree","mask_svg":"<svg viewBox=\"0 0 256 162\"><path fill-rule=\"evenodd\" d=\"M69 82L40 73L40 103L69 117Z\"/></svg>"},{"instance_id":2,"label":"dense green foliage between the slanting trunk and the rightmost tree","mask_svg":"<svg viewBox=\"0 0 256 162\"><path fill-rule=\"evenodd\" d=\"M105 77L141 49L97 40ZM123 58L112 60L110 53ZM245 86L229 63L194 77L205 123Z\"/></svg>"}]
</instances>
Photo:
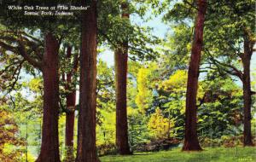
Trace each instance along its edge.
<instances>
[{"instance_id":1,"label":"dense green foliage between the slanting trunk and the rightmost tree","mask_svg":"<svg viewBox=\"0 0 256 162\"><path fill-rule=\"evenodd\" d=\"M219 87L221 85L221 87ZM201 83L204 103L198 109L201 136L238 136L242 124L242 92L231 78L215 78L214 73Z\"/></svg>"}]
</instances>

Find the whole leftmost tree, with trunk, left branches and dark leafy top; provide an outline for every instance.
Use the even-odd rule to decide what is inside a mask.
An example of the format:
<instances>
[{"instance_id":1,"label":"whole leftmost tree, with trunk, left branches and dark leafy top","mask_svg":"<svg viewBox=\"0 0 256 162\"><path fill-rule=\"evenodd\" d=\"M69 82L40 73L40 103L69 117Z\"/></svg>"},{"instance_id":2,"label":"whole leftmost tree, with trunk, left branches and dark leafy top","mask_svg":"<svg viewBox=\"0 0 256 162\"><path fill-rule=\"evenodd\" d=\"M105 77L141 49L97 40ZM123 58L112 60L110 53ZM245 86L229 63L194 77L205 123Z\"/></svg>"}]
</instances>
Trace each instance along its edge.
<instances>
[{"instance_id":1,"label":"whole leftmost tree, with trunk, left branches and dark leafy top","mask_svg":"<svg viewBox=\"0 0 256 162\"><path fill-rule=\"evenodd\" d=\"M44 78L44 116L43 116L43 133L41 152L37 161L60 161L59 155L59 137L58 137L58 114L59 114L59 76L58 76L58 53L61 39L58 39L57 33L61 33L61 19L57 17L37 16L31 19L30 16L23 14L22 10L17 12L9 12L7 6L19 3L20 6L39 5L52 6L55 2L1 2L1 24L6 26L6 31L2 31L1 47L9 51L19 54L32 67L43 73ZM3 4L3 5L2 5ZM73 19L72 19L73 20ZM42 23L44 22L44 23ZM54 22L54 23L53 23ZM67 22L65 22L67 24ZM63 24L62 24L63 25ZM54 29L54 30L53 30ZM44 37L44 43L37 35ZM32 35L28 34L28 31ZM53 32L54 31L54 32ZM67 32L63 32L67 33ZM62 38L62 36L60 37Z\"/></svg>"}]
</instances>

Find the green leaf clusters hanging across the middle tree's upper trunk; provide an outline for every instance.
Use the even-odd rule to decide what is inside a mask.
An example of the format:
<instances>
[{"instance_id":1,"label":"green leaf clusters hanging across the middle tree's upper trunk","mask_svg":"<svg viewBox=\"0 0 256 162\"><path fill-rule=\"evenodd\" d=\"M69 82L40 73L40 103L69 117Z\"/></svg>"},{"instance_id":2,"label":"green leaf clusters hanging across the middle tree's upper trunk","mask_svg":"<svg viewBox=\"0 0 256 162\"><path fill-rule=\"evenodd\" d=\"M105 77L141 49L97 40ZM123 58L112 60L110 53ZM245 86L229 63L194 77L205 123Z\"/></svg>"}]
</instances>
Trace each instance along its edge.
<instances>
[{"instance_id":1,"label":"green leaf clusters hanging across the middle tree's upper trunk","mask_svg":"<svg viewBox=\"0 0 256 162\"><path fill-rule=\"evenodd\" d=\"M119 48L120 44L129 42L129 54L132 60L152 60L159 55L154 49L160 39L152 34L152 28L139 26L129 19L123 19L120 4L124 1L101 1L98 3L98 31L99 42L108 45L110 49ZM128 3L127 14L141 14L142 9L137 9L137 4L131 1ZM134 6L133 6L134 5Z\"/></svg>"}]
</instances>

